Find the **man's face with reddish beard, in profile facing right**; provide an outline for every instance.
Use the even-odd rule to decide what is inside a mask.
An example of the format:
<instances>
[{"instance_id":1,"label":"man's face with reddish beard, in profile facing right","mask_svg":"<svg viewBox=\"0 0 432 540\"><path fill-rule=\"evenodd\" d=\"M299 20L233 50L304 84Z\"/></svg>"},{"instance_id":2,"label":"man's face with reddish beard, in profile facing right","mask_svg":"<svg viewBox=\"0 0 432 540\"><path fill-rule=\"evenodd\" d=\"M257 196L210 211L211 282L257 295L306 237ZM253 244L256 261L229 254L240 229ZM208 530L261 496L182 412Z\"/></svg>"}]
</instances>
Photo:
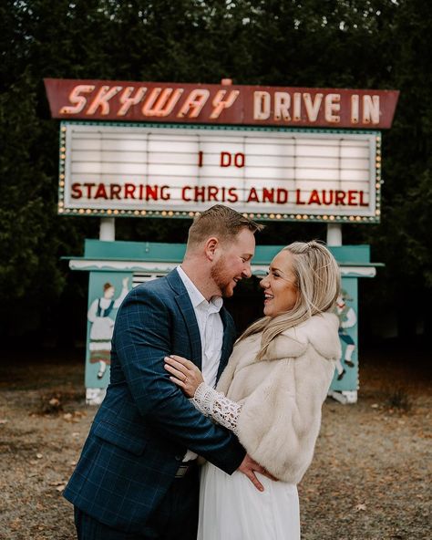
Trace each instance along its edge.
<instances>
[{"instance_id":1,"label":"man's face with reddish beard, in profile facing right","mask_svg":"<svg viewBox=\"0 0 432 540\"><path fill-rule=\"evenodd\" d=\"M221 244L218 259L211 268L211 278L221 296L234 294L234 287L243 277L251 277L251 260L255 253L255 236L242 229L233 241Z\"/></svg>"}]
</instances>

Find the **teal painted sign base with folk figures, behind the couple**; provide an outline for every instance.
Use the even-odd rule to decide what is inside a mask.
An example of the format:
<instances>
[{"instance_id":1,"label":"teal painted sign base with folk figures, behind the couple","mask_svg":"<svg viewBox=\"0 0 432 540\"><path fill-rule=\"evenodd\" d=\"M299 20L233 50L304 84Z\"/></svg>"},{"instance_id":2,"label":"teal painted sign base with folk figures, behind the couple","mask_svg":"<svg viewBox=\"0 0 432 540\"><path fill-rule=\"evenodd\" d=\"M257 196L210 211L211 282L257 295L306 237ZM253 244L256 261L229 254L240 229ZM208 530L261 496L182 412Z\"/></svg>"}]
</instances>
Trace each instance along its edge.
<instances>
[{"instance_id":1,"label":"teal painted sign base with folk figures, behind the couple","mask_svg":"<svg viewBox=\"0 0 432 540\"><path fill-rule=\"evenodd\" d=\"M261 276L283 245L257 246L252 274ZM98 404L109 382L111 337L118 307L132 286L166 275L179 265L185 244L103 242L86 240L85 253L69 258L73 270L89 272L87 306L87 402ZM342 355L336 362L329 394L341 402L355 402L359 389L358 279L374 277L368 245L329 247L341 269L342 293L335 313L339 317Z\"/></svg>"}]
</instances>

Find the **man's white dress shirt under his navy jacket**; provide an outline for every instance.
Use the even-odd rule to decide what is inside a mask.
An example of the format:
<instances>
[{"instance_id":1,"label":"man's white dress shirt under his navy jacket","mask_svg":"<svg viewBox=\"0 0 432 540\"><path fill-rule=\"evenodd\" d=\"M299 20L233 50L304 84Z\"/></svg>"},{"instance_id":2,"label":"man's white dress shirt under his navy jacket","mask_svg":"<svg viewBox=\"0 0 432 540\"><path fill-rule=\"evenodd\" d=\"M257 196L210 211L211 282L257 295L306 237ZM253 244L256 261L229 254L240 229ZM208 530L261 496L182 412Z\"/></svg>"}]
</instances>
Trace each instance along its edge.
<instances>
[{"instance_id":1,"label":"man's white dress shirt under his navy jacket","mask_svg":"<svg viewBox=\"0 0 432 540\"><path fill-rule=\"evenodd\" d=\"M220 296L213 296L208 302L201 292L190 280L181 266L177 266L180 279L188 291L190 302L197 317L201 337L201 372L202 378L210 387L216 386L219 363L222 354L223 324L221 320L221 306L223 301ZM188 358L190 359L190 358ZM197 454L186 452L183 461L195 459Z\"/></svg>"}]
</instances>

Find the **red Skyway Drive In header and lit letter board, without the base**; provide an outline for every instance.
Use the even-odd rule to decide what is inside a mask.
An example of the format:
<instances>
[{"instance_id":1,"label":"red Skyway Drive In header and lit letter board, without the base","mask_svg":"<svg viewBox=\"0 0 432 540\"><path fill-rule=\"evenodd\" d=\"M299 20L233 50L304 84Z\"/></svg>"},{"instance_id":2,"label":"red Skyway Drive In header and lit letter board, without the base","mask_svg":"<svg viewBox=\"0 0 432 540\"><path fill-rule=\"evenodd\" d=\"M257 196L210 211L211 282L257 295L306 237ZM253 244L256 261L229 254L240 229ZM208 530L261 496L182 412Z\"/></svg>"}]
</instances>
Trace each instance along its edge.
<instances>
[{"instance_id":1,"label":"red Skyway Drive In header and lit letter board, without the base","mask_svg":"<svg viewBox=\"0 0 432 540\"><path fill-rule=\"evenodd\" d=\"M190 217L225 203L264 220L379 221L377 129L397 92L90 82L46 80L64 119L59 213Z\"/></svg>"}]
</instances>

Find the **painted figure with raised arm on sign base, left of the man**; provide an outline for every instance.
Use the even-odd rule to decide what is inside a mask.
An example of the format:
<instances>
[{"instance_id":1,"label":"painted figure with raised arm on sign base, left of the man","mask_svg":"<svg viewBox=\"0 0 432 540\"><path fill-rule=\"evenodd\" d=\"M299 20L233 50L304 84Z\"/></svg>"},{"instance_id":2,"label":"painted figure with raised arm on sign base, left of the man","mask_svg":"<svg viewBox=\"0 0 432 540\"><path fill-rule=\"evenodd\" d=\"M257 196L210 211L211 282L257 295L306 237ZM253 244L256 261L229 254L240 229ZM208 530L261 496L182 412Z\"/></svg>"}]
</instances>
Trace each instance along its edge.
<instances>
[{"instance_id":1,"label":"painted figure with raised arm on sign base, left of the man","mask_svg":"<svg viewBox=\"0 0 432 540\"><path fill-rule=\"evenodd\" d=\"M114 329L114 318L111 312L118 309L128 295L129 277L122 281L120 295L114 299L116 289L110 283L104 285L103 296L96 298L88 308L87 319L91 323L90 329L90 363L98 363L98 379L102 379L110 363L111 337Z\"/></svg>"}]
</instances>

